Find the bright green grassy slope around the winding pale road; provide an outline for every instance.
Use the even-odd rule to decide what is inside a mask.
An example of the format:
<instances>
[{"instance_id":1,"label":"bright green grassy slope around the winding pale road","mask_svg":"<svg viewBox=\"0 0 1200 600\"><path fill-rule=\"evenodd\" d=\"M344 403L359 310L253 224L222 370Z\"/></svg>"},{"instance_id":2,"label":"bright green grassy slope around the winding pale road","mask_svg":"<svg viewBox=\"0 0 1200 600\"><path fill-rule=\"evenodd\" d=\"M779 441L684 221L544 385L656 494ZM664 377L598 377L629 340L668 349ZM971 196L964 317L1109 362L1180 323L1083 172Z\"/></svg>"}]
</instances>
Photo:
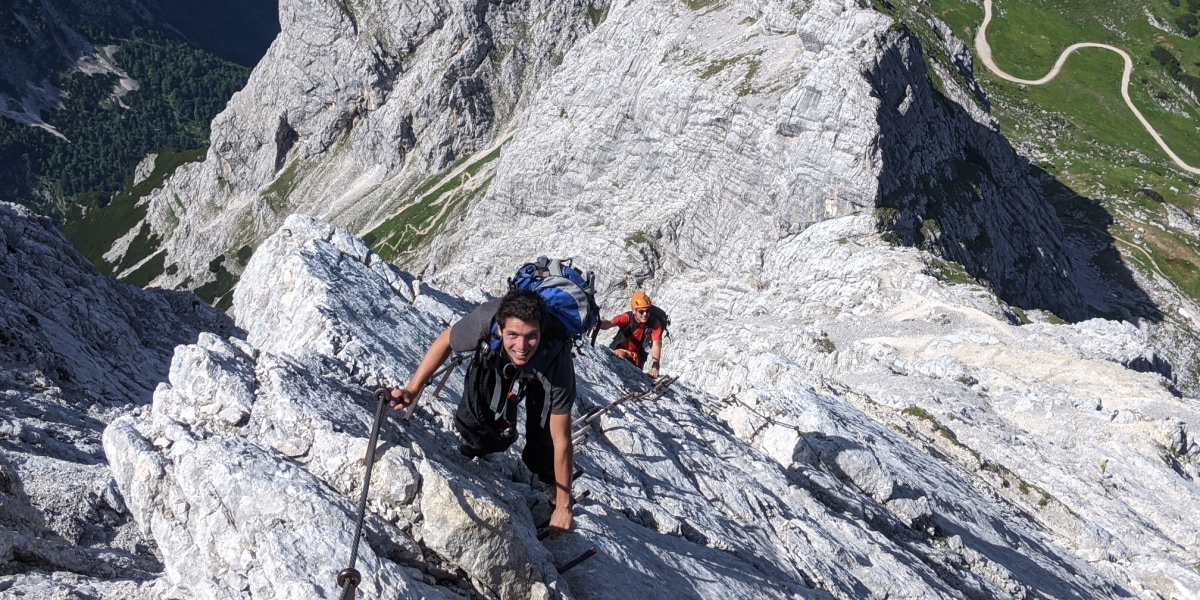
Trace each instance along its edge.
<instances>
[{"instance_id":1,"label":"bright green grassy slope around the winding pale road","mask_svg":"<svg viewBox=\"0 0 1200 600\"><path fill-rule=\"evenodd\" d=\"M1037 79L1078 42L1115 46L1134 60L1129 94L1134 104L1188 164L1200 168L1200 104L1186 91L1200 78L1200 43L1176 22L1189 23L1200 0L995 0L988 41L996 65L1008 74ZM932 12L974 54L983 4L966 0L905 0L894 17ZM923 40L929 47L931 41ZM1163 50L1178 66L1172 73L1156 59ZM976 55L974 74L992 102L1001 131L1033 164L1079 194L1099 200L1112 216L1108 233L1121 258L1168 277L1200 299L1200 242L1168 226L1166 204L1192 212L1200 205L1200 178L1180 169L1138 122L1120 94L1122 59L1085 48L1062 73L1039 86L1006 82ZM1183 80L1181 82L1181 77ZM1072 202L1056 203L1070 208Z\"/></svg>"}]
</instances>

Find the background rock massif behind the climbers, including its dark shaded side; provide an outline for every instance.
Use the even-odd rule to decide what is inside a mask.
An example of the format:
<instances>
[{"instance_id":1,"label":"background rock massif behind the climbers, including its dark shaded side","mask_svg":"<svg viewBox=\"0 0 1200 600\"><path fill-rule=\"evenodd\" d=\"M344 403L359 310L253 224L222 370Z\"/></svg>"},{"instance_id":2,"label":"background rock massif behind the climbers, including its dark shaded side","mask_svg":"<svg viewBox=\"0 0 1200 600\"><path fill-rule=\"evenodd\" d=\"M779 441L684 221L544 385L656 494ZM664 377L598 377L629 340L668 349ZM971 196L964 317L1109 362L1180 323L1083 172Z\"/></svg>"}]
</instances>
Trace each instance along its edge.
<instances>
[{"instance_id":1,"label":"background rock massif behind the climbers, including its dark shaded side","mask_svg":"<svg viewBox=\"0 0 1200 600\"><path fill-rule=\"evenodd\" d=\"M414 272L502 268L538 238L624 286L742 272L815 222L875 214L1010 302L1084 313L1062 228L973 82L934 91L914 38L857 2L284 1L281 22L208 160L151 197L160 284L210 281L222 254L236 274L294 211L359 233L439 212L412 227L445 235L396 248ZM470 184L451 178L464 164ZM454 186L476 187L428 192Z\"/></svg>"}]
</instances>

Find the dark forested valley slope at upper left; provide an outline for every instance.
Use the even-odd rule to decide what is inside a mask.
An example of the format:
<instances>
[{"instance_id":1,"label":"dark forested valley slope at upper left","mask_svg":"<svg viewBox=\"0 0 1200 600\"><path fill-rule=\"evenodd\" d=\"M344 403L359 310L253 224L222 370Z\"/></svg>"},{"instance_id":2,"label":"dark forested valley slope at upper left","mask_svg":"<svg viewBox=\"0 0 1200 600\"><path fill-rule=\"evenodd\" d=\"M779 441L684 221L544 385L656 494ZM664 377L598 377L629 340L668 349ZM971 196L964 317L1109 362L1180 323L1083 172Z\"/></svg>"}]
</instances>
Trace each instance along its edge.
<instances>
[{"instance_id":1,"label":"dark forested valley slope at upper left","mask_svg":"<svg viewBox=\"0 0 1200 600\"><path fill-rule=\"evenodd\" d=\"M250 76L246 67L163 36L112 46L112 60L138 89L116 97L114 74L54 73L62 106L43 118L65 139L0 119L2 199L59 222L78 218L79 208L107 205L146 154L168 145L205 148L212 118Z\"/></svg>"}]
</instances>

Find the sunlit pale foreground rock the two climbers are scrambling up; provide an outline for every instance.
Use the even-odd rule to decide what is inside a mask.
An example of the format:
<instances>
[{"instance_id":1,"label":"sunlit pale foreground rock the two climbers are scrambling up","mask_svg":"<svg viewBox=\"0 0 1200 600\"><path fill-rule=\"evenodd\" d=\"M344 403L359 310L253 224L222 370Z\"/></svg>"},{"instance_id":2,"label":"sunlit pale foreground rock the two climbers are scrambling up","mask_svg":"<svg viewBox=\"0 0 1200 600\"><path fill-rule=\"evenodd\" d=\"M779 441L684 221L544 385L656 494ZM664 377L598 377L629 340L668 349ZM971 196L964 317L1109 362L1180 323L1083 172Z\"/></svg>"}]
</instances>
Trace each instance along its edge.
<instances>
[{"instance_id":1,"label":"sunlit pale foreground rock the two climbers are scrambling up","mask_svg":"<svg viewBox=\"0 0 1200 600\"><path fill-rule=\"evenodd\" d=\"M571 534L536 539L550 508L517 449L484 460L457 452L461 367L412 420L389 412L358 546L360 593L1200 590L1190 566L1200 547L1190 526L1200 516L1200 448L1189 437L1200 412L1160 376L1124 366L1153 360L1138 330L1096 320L1010 325L983 289L929 276L926 254L856 233L864 228L856 220L869 218L810 227L793 238L797 253L780 257L814 277L785 312L839 307L839 318L791 329L750 306L725 332L668 342L667 365L683 379L661 398L607 413L580 446L575 493L589 496ZM755 296L722 294L734 304ZM781 300L766 296L757 295ZM371 390L403 383L428 341L470 307L344 230L289 217L235 290L230 312L245 334L200 334L179 346L152 404L104 430L109 498L120 506L113 517L136 523L126 534L154 548L161 575L16 569L0 589L338 598ZM648 385L602 348L584 346L576 364L577 414ZM5 481L13 497L20 485L46 485L36 470ZM29 504L6 518L36 521L37 503ZM557 572L588 546L594 558Z\"/></svg>"}]
</instances>

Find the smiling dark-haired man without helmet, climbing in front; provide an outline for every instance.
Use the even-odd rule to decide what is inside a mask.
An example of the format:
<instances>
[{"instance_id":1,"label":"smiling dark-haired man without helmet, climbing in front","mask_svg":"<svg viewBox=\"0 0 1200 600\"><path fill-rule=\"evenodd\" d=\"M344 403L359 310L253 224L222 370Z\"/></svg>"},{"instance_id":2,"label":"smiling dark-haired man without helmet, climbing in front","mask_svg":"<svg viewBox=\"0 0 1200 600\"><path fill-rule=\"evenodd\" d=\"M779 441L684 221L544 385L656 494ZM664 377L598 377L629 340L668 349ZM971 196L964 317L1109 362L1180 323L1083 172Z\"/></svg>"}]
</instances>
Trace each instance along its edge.
<instances>
[{"instance_id":1,"label":"smiling dark-haired man without helmet, climbing in front","mask_svg":"<svg viewBox=\"0 0 1200 600\"><path fill-rule=\"evenodd\" d=\"M484 302L439 335L412 379L391 391L392 408L412 404L450 352L472 352L455 428L470 457L506 450L517 439L517 406L526 403L521 458L554 505L550 533L571 529L571 409L575 362L569 340L542 336L550 317L538 293L515 289Z\"/></svg>"}]
</instances>

